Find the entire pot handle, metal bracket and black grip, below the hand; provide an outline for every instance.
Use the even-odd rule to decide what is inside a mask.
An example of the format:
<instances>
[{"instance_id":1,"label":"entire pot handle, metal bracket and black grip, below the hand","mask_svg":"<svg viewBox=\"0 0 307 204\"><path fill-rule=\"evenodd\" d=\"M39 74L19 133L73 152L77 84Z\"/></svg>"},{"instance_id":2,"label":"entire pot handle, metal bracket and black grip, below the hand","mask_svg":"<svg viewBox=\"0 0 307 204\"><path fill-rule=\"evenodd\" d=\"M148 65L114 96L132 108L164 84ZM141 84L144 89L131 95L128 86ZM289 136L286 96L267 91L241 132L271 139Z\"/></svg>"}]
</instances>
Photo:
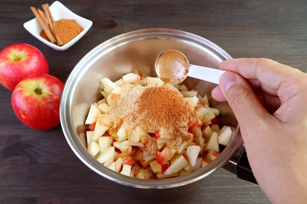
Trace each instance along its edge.
<instances>
[{"instance_id":1,"label":"entire pot handle, metal bracket and black grip, below the hand","mask_svg":"<svg viewBox=\"0 0 307 204\"><path fill-rule=\"evenodd\" d=\"M236 174L239 179L258 184L249 165L244 144L223 168Z\"/></svg>"}]
</instances>

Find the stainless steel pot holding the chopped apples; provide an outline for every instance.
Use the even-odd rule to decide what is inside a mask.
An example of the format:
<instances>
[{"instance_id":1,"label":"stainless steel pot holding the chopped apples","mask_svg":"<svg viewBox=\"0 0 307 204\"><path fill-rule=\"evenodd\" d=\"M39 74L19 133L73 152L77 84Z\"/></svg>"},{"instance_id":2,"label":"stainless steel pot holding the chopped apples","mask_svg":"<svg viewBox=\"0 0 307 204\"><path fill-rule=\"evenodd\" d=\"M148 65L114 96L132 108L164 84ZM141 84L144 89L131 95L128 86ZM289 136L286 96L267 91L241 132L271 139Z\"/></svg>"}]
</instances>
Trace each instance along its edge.
<instances>
[{"instance_id":1,"label":"stainless steel pot holding the chopped apples","mask_svg":"<svg viewBox=\"0 0 307 204\"><path fill-rule=\"evenodd\" d=\"M135 179L104 167L87 152L79 137L85 133L84 121L90 105L102 97L100 79L107 77L113 81L118 80L131 71L156 77L155 60L165 49L177 49L187 56L190 63L213 68L217 68L223 60L232 59L221 47L191 33L169 29L134 31L107 40L87 53L71 72L61 97L60 119L63 133L76 156L106 179L132 187L124 190L125 192L133 191L146 197L156 197L158 193L171 198L172 195L188 193L227 163L227 168L235 173L238 159L244 151L237 121L230 107L227 103L218 103L209 97L210 105L221 110L218 123L236 126L237 131L220 157L190 175L167 180ZM192 78L187 78L184 84L190 89L198 90L201 95L208 96L216 86ZM136 188L139 190L135 191Z\"/></svg>"}]
</instances>

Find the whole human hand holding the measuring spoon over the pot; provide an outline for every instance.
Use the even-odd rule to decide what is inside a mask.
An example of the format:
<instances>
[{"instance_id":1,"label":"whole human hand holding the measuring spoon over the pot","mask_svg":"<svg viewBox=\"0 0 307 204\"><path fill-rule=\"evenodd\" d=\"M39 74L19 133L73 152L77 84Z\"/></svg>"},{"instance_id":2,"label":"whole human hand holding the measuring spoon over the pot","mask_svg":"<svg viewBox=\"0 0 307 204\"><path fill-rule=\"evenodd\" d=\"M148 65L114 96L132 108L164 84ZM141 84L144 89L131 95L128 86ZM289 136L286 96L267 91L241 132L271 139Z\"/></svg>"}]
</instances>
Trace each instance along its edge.
<instances>
[{"instance_id":1,"label":"whole human hand holding the measuring spoon over the pot","mask_svg":"<svg viewBox=\"0 0 307 204\"><path fill-rule=\"evenodd\" d=\"M307 200L307 74L269 59L234 59L212 97L228 101L260 188L273 203Z\"/></svg>"}]
</instances>

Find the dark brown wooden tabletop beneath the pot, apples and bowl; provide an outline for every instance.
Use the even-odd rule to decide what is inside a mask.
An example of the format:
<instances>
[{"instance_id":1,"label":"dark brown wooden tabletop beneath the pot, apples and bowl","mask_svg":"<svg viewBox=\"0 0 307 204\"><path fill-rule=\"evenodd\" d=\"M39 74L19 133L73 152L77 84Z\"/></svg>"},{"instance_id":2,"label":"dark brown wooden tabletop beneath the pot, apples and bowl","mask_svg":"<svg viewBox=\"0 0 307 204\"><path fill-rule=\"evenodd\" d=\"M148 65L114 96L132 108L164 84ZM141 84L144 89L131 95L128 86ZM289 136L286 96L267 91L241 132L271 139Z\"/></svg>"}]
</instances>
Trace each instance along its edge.
<instances>
[{"instance_id":1,"label":"dark brown wooden tabletop beneath the pot, apples and bowl","mask_svg":"<svg viewBox=\"0 0 307 204\"><path fill-rule=\"evenodd\" d=\"M307 70L307 1L93 1L63 0L93 27L67 52L35 39L23 23L30 6L0 1L0 49L23 42L46 56L50 74L65 82L74 65L96 45L144 28L171 28L205 37L233 57L267 57ZM123 195L113 182L87 168L74 155L60 125L36 131L15 117L11 91L0 86L0 203L157 203ZM159 203L270 203L261 189L224 169L192 194Z\"/></svg>"}]
</instances>

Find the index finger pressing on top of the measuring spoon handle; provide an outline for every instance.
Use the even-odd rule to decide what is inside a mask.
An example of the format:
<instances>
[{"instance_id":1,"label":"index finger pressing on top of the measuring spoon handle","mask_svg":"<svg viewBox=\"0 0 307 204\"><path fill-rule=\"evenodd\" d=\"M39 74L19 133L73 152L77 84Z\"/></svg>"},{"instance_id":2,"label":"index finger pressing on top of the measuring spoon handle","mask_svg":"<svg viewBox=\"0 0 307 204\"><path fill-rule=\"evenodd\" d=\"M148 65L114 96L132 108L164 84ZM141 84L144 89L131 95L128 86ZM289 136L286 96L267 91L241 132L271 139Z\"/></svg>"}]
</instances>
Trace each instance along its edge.
<instances>
[{"instance_id":1,"label":"index finger pressing on top of the measuring spoon handle","mask_svg":"<svg viewBox=\"0 0 307 204\"><path fill-rule=\"evenodd\" d=\"M223 61L220 69L236 72L249 80L258 80L270 89L278 90L282 82L302 73L293 67L266 58L238 58Z\"/></svg>"}]
</instances>

